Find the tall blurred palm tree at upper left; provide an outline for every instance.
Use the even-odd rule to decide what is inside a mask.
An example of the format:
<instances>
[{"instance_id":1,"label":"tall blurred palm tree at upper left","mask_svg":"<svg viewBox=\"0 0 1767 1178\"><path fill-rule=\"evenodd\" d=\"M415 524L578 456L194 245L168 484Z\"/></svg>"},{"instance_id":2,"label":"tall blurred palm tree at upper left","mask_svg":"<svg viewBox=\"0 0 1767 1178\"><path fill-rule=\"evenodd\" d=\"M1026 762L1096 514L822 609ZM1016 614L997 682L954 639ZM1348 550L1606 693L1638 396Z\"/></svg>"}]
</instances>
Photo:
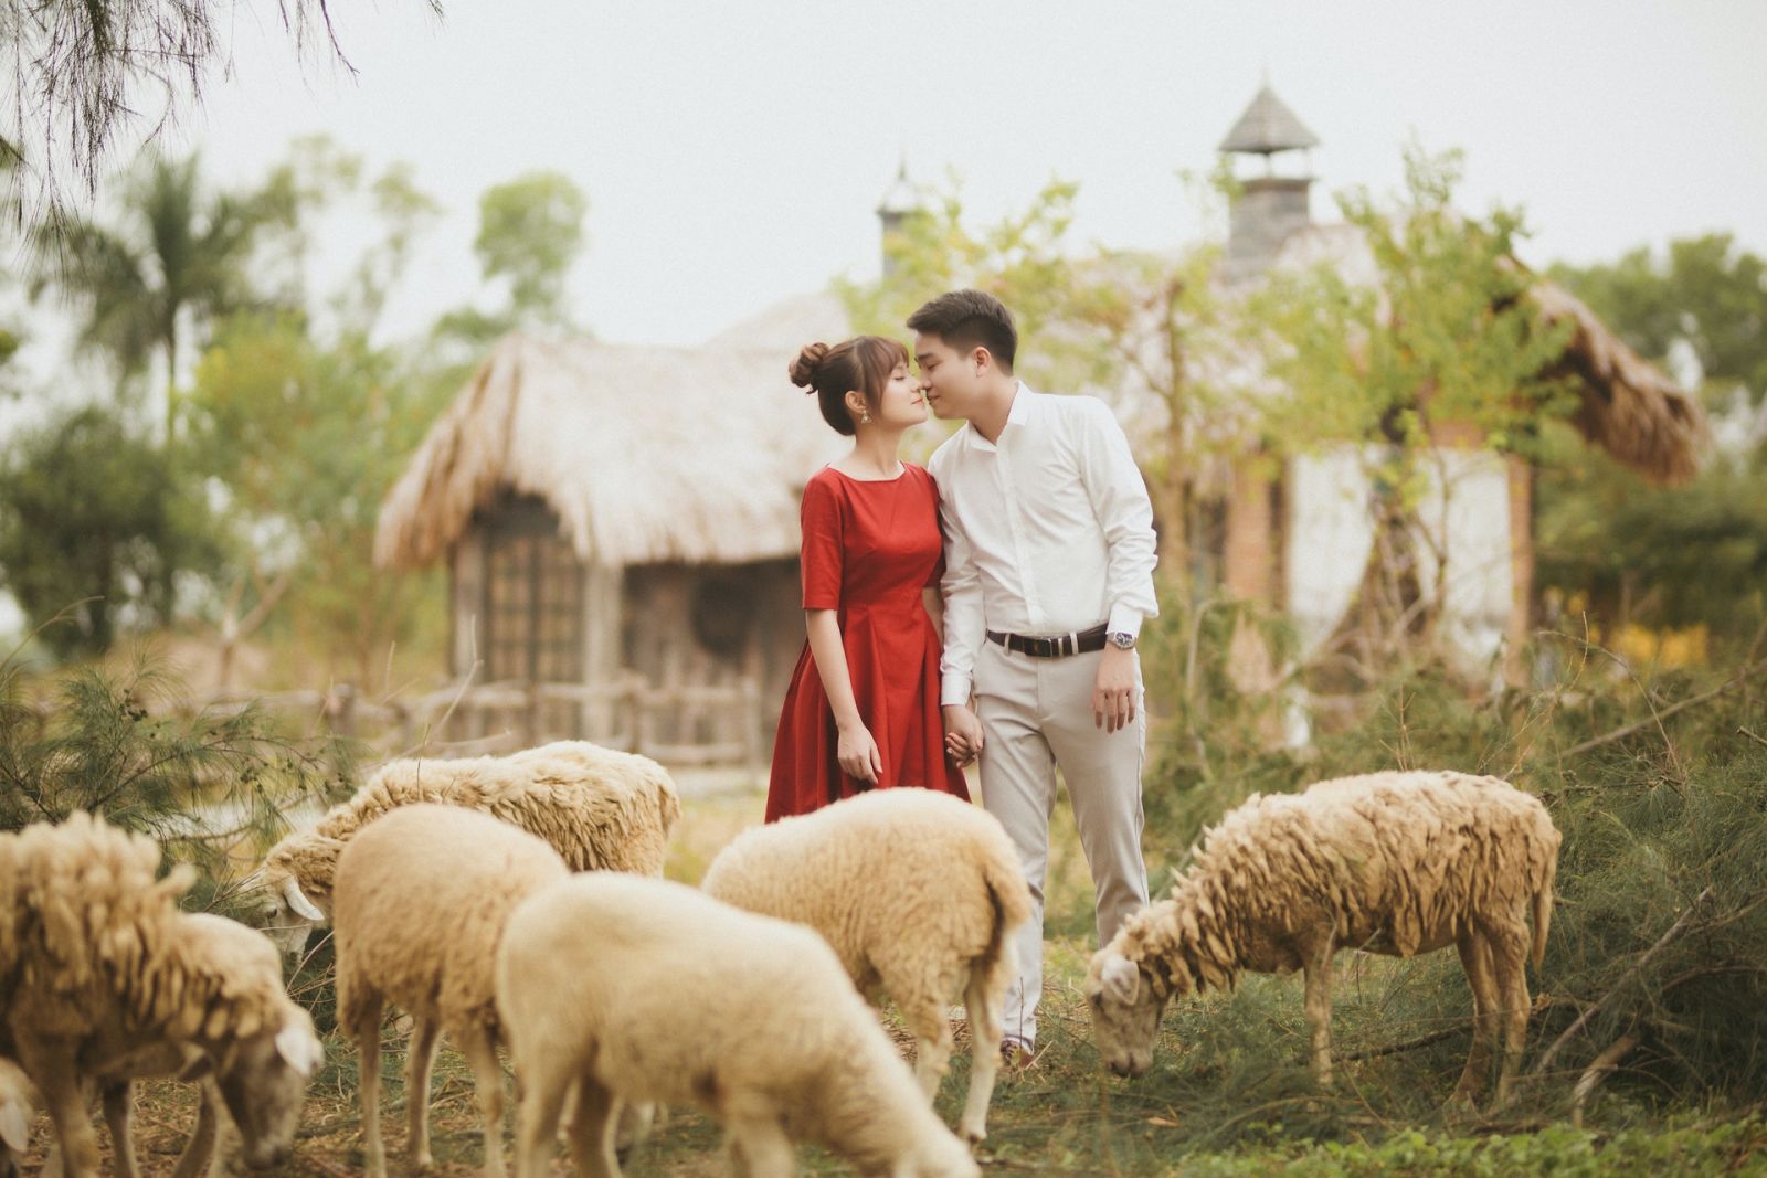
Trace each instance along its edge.
<instances>
[{"instance_id":1,"label":"tall blurred palm tree at upper left","mask_svg":"<svg viewBox=\"0 0 1767 1178\"><path fill-rule=\"evenodd\" d=\"M42 233L32 295L55 288L81 307L80 346L108 353L124 378L161 357L170 438L184 325L251 304L246 260L262 221L251 198L207 194L196 155L155 155L124 187L115 226L69 217Z\"/></svg>"}]
</instances>

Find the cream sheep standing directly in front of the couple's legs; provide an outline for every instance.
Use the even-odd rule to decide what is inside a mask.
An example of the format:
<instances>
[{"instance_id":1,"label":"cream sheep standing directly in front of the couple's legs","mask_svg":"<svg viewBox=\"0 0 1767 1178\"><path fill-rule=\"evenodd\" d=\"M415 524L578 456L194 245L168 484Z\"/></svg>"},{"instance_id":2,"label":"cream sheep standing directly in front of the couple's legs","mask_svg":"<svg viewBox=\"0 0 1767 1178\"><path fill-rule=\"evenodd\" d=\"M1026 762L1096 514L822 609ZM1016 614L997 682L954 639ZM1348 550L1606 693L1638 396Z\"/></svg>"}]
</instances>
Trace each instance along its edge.
<instances>
[{"instance_id":1,"label":"cream sheep standing directly in front of the couple's legs","mask_svg":"<svg viewBox=\"0 0 1767 1178\"><path fill-rule=\"evenodd\" d=\"M970 1091L963 1136L988 1136L1000 1070L1011 933L1030 918L1018 853L988 811L931 789L878 789L740 834L705 872L707 895L808 924L861 994L887 991L915 1037L928 1100L951 1060L947 1005L963 994Z\"/></svg>"}]
</instances>

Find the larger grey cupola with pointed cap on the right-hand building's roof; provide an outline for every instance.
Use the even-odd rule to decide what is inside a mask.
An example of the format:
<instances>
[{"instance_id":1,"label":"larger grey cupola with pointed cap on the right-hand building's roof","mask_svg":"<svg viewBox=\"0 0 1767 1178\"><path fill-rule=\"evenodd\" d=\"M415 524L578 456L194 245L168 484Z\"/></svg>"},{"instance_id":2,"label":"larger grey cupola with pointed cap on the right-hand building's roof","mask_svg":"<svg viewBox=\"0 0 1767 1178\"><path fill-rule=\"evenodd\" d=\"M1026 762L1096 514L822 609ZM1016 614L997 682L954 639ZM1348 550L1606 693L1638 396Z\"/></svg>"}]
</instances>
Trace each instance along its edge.
<instances>
[{"instance_id":1,"label":"larger grey cupola with pointed cap on the right-hand building's roof","mask_svg":"<svg viewBox=\"0 0 1767 1178\"><path fill-rule=\"evenodd\" d=\"M1276 251L1295 230L1313 223L1308 196L1313 187L1311 148L1318 136L1276 97L1265 81L1221 140L1226 155L1262 155L1263 175L1239 177L1239 194L1228 214L1226 277L1240 283L1256 277L1276 258ZM1278 175L1272 157L1281 152L1308 152L1299 175Z\"/></svg>"}]
</instances>

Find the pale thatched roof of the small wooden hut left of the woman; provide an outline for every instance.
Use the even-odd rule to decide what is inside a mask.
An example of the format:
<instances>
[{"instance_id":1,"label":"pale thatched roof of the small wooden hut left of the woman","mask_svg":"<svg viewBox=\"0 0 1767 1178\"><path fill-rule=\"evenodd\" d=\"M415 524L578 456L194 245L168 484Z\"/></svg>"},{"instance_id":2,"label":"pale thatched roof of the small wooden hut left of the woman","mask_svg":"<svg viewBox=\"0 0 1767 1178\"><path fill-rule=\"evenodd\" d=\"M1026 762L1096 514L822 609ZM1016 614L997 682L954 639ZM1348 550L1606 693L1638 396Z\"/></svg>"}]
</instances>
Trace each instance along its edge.
<instances>
[{"instance_id":1,"label":"pale thatched roof of the small wooden hut left of the woman","mask_svg":"<svg viewBox=\"0 0 1767 1178\"><path fill-rule=\"evenodd\" d=\"M843 443L788 360L509 336L387 493L375 562L442 560L504 489L546 500L585 562L793 556L804 480Z\"/></svg>"}]
</instances>

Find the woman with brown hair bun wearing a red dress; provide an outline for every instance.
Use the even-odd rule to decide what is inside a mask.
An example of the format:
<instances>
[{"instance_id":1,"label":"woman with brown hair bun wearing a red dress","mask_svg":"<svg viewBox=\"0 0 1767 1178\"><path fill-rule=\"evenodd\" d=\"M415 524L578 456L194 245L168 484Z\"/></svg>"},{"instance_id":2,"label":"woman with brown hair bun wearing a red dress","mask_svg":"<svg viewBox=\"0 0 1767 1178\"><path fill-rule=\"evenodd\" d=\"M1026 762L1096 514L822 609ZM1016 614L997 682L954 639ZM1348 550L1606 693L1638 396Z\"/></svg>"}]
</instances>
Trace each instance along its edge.
<instances>
[{"instance_id":1,"label":"woman with brown hair bun wearing a red dress","mask_svg":"<svg viewBox=\"0 0 1767 1178\"><path fill-rule=\"evenodd\" d=\"M809 641L779 714L767 821L873 788L968 798L938 710L938 489L898 457L926 420L908 350L878 336L816 343L790 373L853 449L804 487Z\"/></svg>"}]
</instances>

